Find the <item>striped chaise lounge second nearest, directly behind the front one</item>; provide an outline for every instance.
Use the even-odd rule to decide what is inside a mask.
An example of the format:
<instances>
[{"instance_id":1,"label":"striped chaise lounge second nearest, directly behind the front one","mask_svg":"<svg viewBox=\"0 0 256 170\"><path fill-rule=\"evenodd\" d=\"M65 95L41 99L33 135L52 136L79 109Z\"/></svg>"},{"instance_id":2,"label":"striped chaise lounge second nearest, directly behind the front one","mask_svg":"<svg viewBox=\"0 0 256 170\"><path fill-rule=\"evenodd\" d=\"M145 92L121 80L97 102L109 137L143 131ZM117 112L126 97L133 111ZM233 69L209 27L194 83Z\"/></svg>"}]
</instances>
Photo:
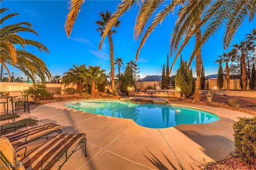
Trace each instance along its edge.
<instances>
[{"instance_id":1,"label":"striped chaise lounge second nearest, directly behind the front one","mask_svg":"<svg viewBox=\"0 0 256 170\"><path fill-rule=\"evenodd\" d=\"M39 138L43 138L44 136L46 136L46 138L48 139L48 134L51 134L53 132L61 133L61 129L62 125L56 125L55 123L46 123L40 126L24 129L15 133L10 132L2 135L2 137L8 138L12 146L14 148L18 148L23 144L32 142Z\"/></svg>"}]
</instances>

